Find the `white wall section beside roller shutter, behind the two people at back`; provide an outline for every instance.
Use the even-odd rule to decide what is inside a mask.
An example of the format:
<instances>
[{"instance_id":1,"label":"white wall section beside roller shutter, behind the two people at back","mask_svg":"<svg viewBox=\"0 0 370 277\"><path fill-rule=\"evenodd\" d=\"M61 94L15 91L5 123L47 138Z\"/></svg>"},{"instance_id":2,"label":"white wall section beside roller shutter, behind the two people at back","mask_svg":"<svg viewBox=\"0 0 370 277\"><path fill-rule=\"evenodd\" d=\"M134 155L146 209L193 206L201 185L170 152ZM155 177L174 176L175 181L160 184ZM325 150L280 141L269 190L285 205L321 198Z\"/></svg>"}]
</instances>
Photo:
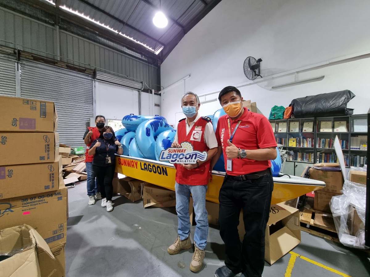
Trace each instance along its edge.
<instances>
[{"instance_id":1,"label":"white wall section beside roller shutter, behind the two people at back","mask_svg":"<svg viewBox=\"0 0 370 277\"><path fill-rule=\"evenodd\" d=\"M107 119L121 119L127 114L139 113L138 91L95 82L95 114Z\"/></svg>"}]
</instances>

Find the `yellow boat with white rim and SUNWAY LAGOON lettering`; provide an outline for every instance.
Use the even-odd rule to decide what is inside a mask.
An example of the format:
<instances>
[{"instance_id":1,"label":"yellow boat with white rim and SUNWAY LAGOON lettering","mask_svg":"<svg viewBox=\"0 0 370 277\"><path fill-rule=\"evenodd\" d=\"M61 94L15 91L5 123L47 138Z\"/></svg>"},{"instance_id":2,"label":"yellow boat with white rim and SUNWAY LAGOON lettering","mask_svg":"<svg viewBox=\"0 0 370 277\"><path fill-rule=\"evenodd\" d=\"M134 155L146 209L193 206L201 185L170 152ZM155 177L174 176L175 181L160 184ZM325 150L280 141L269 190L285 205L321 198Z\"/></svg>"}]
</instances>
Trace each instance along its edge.
<instances>
[{"instance_id":1,"label":"yellow boat with white rim and SUNWAY LAGOON lettering","mask_svg":"<svg viewBox=\"0 0 370 277\"><path fill-rule=\"evenodd\" d=\"M160 187L175 190L174 165L161 161L153 161L142 158L117 155L116 172L149 182ZM220 191L225 172L212 171L212 181L208 183L206 200L219 203ZM273 177L274 190L272 192L271 205L297 198L311 191L325 187L325 183L313 179L306 179L292 175Z\"/></svg>"}]
</instances>

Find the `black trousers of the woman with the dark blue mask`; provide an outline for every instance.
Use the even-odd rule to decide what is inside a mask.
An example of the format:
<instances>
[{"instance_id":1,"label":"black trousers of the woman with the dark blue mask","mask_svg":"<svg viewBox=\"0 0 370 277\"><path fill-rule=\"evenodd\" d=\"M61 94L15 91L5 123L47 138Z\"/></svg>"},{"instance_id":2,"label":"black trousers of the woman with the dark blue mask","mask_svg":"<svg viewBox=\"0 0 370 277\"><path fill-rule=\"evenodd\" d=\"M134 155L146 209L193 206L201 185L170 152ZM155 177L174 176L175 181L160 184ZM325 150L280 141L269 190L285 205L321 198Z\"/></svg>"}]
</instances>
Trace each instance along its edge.
<instances>
[{"instance_id":1,"label":"black trousers of the woman with the dark blue mask","mask_svg":"<svg viewBox=\"0 0 370 277\"><path fill-rule=\"evenodd\" d=\"M113 194L113 176L115 165L110 165L107 167L98 167L97 165L92 165L94 169L96 178L98 180L99 192L101 198L107 198L107 201L112 201Z\"/></svg>"}]
</instances>

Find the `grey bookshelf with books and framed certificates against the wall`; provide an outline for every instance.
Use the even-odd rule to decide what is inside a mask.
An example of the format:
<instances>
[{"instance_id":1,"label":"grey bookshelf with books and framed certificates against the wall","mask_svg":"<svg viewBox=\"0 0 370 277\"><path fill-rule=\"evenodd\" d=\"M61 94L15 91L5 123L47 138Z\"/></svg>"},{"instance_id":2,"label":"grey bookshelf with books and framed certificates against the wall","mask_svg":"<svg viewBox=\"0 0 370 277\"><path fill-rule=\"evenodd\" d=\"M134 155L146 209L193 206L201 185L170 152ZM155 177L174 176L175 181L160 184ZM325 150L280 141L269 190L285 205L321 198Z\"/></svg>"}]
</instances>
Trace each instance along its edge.
<instances>
[{"instance_id":1,"label":"grey bookshelf with books and framed certificates against the wall","mask_svg":"<svg viewBox=\"0 0 370 277\"><path fill-rule=\"evenodd\" d=\"M287 158L287 174L300 175L307 164L336 162L336 136L346 167L362 167L367 163L367 114L269 121L272 128L275 126L276 142L294 153Z\"/></svg>"}]
</instances>

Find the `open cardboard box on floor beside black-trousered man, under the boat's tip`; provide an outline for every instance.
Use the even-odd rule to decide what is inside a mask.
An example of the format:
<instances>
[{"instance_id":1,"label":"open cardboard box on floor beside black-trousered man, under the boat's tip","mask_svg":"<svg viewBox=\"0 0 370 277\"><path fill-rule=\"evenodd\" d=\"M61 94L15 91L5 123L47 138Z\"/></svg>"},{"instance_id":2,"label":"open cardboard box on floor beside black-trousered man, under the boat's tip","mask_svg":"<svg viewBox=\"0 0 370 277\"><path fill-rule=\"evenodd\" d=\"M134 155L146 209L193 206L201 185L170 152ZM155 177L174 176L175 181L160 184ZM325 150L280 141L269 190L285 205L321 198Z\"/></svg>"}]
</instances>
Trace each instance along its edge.
<instances>
[{"instance_id":1,"label":"open cardboard box on floor beside black-trousered man, under the boat's tip","mask_svg":"<svg viewBox=\"0 0 370 277\"><path fill-rule=\"evenodd\" d=\"M238 230L242 241L245 235L242 212ZM275 263L300 242L299 210L286 205L271 205L265 233L265 261Z\"/></svg>"}]
</instances>

